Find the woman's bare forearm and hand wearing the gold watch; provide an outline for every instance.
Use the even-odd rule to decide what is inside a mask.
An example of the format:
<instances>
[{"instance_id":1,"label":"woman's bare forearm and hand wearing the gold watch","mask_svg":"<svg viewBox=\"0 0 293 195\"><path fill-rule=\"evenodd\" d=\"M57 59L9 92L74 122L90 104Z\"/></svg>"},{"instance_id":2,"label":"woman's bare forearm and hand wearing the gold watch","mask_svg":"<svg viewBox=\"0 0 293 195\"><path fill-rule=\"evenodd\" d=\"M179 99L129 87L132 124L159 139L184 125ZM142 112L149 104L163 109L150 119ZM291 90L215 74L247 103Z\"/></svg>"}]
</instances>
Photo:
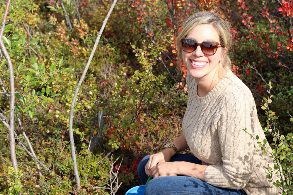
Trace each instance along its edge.
<instances>
[{"instance_id":1,"label":"woman's bare forearm and hand wearing the gold watch","mask_svg":"<svg viewBox=\"0 0 293 195\"><path fill-rule=\"evenodd\" d=\"M183 151L188 148L187 142L185 140L184 135L180 135L173 144L176 146L178 152ZM145 166L146 174L149 176L154 176L152 174L151 168L156 166L158 163L169 162L171 157L174 156L175 152L172 148L167 148L162 150L159 153L153 154L150 156L147 165Z\"/></svg>"}]
</instances>

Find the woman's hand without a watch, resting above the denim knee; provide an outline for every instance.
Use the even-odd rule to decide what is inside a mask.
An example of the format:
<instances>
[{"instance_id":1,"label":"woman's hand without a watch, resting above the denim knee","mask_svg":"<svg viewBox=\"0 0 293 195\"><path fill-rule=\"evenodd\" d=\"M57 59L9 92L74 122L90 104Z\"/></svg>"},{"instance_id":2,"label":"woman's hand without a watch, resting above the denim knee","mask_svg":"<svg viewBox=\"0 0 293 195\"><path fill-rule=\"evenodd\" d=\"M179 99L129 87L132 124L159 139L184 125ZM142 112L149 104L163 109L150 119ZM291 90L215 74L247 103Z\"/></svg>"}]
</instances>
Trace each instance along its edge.
<instances>
[{"instance_id":1,"label":"woman's hand without a watch, resting above the denim knee","mask_svg":"<svg viewBox=\"0 0 293 195\"><path fill-rule=\"evenodd\" d=\"M154 178L164 176L177 176L178 165L180 162L163 162L151 168L151 173Z\"/></svg>"}]
</instances>

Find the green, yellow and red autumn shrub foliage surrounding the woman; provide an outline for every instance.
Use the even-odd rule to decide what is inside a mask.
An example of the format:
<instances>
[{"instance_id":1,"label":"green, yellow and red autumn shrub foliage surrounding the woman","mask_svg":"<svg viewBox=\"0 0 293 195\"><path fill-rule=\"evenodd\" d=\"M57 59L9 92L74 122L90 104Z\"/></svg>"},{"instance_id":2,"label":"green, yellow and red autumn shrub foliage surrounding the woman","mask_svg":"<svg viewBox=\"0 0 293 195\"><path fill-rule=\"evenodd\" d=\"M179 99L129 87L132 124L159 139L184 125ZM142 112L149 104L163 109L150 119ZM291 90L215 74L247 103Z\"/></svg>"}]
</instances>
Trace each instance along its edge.
<instances>
[{"instance_id":1,"label":"green, yellow and red autumn shrub foliage surrounding the woman","mask_svg":"<svg viewBox=\"0 0 293 195\"><path fill-rule=\"evenodd\" d=\"M6 2L0 2L2 16ZM252 136L260 141L260 151L266 152L262 144L267 141L272 146L276 165L267 168L268 179L279 175L280 180L272 182L282 186L284 194L292 194L293 11L290 2L275 0L118 1L75 103L73 130L81 178L81 189L76 188L69 110L111 4L11 1L3 42L16 86L18 169L11 166L8 130L1 123L0 191L125 194L140 185L140 159L181 134L187 69L176 62L176 33L186 18L202 10L218 12L232 27L233 71L251 89L268 140ZM4 57L0 70L1 120L8 122L10 83ZM43 165L40 170L40 163L24 149L29 147L25 137Z\"/></svg>"}]
</instances>

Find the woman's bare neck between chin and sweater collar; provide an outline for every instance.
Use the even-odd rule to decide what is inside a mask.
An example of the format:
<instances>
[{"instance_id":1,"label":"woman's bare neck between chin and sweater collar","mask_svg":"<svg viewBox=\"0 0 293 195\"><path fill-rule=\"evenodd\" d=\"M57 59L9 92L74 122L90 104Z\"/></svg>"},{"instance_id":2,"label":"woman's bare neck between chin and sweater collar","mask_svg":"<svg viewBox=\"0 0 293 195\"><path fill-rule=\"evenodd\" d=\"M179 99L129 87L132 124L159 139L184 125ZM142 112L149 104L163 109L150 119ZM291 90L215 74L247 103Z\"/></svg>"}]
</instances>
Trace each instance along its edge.
<instances>
[{"instance_id":1,"label":"woman's bare neck between chin and sweater collar","mask_svg":"<svg viewBox=\"0 0 293 195\"><path fill-rule=\"evenodd\" d=\"M210 77L196 79L197 95L200 97L206 96L218 84L218 82L224 77L226 73L227 71L221 67L220 69L217 68L212 79Z\"/></svg>"}]
</instances>

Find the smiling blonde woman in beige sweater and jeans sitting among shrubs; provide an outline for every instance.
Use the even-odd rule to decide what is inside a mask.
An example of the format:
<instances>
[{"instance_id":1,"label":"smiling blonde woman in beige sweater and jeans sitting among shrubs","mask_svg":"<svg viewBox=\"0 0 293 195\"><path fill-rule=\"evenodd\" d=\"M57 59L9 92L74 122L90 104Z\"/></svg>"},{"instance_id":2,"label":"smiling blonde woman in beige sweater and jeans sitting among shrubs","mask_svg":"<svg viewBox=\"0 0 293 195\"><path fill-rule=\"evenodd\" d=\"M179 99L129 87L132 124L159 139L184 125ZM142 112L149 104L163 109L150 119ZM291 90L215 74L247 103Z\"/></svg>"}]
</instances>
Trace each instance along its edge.
<instances>
[{"instance_id":1,"label":"smiling blonde woman in beige sweater and jeans sitting among shrubs","mask_svg":"<svg viewBox=\"0 0 293 195\"><path fill-rule=\"evenodd\" d=\"M188 69L183 134L139 164L142 182L154 177L144 194L278 194L265 177L273 162L248 134L265 139L250 90L231 72L231 44L229 25L214 13L184 23L176 42ZM188 147L194 156L175 155Z\"/></svg>"}]
</instances>

